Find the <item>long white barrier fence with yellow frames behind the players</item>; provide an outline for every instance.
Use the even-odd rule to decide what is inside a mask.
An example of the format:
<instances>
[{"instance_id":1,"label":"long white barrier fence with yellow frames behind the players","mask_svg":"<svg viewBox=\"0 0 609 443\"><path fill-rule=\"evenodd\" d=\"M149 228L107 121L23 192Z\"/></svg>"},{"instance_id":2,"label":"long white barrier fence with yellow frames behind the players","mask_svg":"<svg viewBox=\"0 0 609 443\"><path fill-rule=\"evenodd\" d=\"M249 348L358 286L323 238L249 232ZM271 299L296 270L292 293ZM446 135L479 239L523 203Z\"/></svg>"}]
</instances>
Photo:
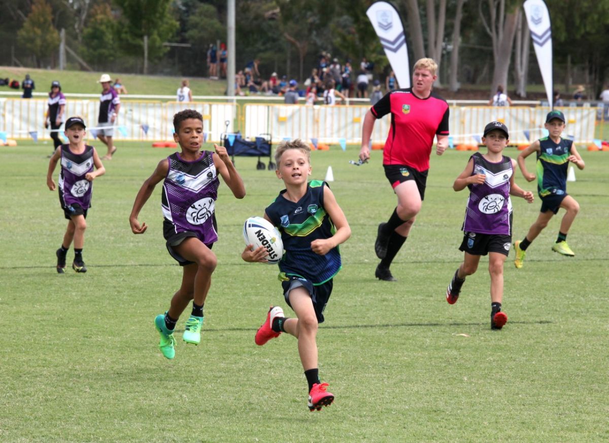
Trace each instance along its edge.
<instances>
[{"instance_id":1,"label":"long white barrier fence with yellow frames behind the players","mask_svg":"<svg viewBox=\"0 0 609 443\"><path fill-rule=\"evenodd\" d=\"M41 139L50 138L44 128L48 105L40 99L0 99L0 131L7 138L29 139L32 132ZM99 102L69 99L66 116L79 115L89 128L97 122ZM114 131L116 140L166 141L172 139L172 117L191 108L203 116L207 141L221 142L222 133L242 130L246 138L270 134L274 142L284 138L318 139L320 142L348 144L361 142L361 128L369 105L307 106L220 102L158 102L124 100ZM565 136L578 143L590 144L596 139L596 125L604 125L602 108L590 106L557 108L565 114ZM454 144L476 144L484 125L492 120L504 122L510 129L512 144L525 144L544 134L544 121L549 108L544 106L451 106L449 127ZM599 114L600 113L600 114ZM389 117L376 120L372 141L384 142L389 133ZM600 128L601 133L603 128Z\"/></svg>"}]
</instances>

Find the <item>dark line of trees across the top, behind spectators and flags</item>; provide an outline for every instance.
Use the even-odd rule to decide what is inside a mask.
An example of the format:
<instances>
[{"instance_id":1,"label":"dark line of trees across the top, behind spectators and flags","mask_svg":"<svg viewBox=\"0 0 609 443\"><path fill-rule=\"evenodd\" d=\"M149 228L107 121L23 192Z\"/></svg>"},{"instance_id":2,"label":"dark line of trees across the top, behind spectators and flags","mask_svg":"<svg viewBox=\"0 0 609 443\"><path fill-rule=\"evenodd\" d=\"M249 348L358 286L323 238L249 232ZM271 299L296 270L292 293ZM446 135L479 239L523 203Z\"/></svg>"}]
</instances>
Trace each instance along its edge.
<instances>
[{"instance_id":1,"label":"dark line of trees across the top, behind spectators and flags","mask_svg":"<svg viewBox=\"0 0 609 443\"><path fill-rule=\"evenodd\" d=\"M144 36L152 72L204 77L210 44L226 41L225 0L12 0L0 15L2 60L55 68L59 31L96 70L141 72ZM322 52L375 75L389 72L366 10L371 0L239 0L237 70L258 58L271 72L304 80ZM609 60L609 0L547 2L552 19L555 83L600 91ZM523 0L400 0L410 60L431 57L438 86L509 85L524 97L540 83ZM181 46L173 46L179 43ZM9 52L10 51L10 52ZM77 61L71 65L77 67ZM150 71L149 71L150 72Z\"/></svg>"}]
</instances>

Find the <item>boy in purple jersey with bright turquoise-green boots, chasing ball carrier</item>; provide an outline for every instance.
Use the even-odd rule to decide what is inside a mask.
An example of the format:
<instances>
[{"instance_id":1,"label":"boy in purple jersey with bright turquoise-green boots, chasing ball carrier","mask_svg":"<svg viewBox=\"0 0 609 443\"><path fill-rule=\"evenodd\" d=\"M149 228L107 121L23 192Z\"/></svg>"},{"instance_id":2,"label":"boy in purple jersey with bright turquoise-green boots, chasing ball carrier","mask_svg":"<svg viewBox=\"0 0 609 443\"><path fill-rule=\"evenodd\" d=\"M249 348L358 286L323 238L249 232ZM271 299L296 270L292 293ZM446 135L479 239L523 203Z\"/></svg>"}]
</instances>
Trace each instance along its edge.
<instances>
[{"instance_id":1,"label":"boy in purple jersey with bright turquoise-green boots, chasing ball carrier","mask_svg":"<svg viewBox=\"0 0 609 443\"><path fill-rule=\"evenodd\" d=\"M217 263L211 248L218 239L214 213L220 184L218 173L236 198L245 197L245 186L226 148L214 145L216 153L201 151L203 116L200 113L183 110L175 114L174 129L174 140L180 144L181 152L158 163L139 189L129 217L133 234L146 232L146 223L138 222L139 211L157 183L164 180L163 235L167 251L183 267L181 286L171 299L169 310L155 318L155 327L161 336L159 349L166 358L175 357L175 324L191 300L192 313L182 338L192 344L199 344L201 340L203 304Z\"/></svg>"}]
</instances>

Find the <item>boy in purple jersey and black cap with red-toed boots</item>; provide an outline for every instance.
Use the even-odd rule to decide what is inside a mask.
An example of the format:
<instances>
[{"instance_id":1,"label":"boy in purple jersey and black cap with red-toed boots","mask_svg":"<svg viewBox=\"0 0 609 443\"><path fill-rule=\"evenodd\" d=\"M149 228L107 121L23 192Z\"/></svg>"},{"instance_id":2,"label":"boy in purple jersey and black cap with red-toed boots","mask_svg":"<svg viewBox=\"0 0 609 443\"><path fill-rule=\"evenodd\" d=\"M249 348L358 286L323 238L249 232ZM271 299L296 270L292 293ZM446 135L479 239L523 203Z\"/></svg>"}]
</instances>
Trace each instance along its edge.
<instances>
[{"instance_id":1,"label":"boy in purple jersey and black cap with red-toed boots","mask_svg":"<svg viewBox=\"0 0 609 443\"><path fill-rule=\"evenodd\" d=\"M512 244L512 202L510 195L533 202L533 193L514 183L516 162L502 152L509 141L507 127L490 122L484 128L482 143L487 153L476 152L452 189L468 187L470 198L463 220L463 241L459 249L465 253L463 262L446 290L446 301L455 304L465 277L476 272L480 256L488 254L491 275L491 329L501 329L507 315L501 312L503 299L503 263Z\"/></svg>"}]
</instances>

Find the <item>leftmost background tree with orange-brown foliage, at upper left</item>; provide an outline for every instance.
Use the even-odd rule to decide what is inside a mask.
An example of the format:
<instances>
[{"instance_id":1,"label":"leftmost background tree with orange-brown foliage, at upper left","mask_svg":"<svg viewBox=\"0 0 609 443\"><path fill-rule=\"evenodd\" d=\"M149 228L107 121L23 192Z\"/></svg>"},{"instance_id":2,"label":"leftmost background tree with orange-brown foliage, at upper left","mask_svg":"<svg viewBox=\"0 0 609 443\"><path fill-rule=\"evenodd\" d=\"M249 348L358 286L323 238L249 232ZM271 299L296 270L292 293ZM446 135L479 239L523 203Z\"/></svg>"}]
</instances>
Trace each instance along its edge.
<instances>
[{"instance_id":1,"label":"leftmost background tree with orange-brown foliage, at upper left","mask_svg":"<svg viewBox=\"0 0 609 443\"><path fill-rule=\"evenodd\" d=\"M17 33L20 46L32 55L38 68L43 61L54 60L59 47L59 33L53 27L52 17L51 5L46 0L35 0Z\"/></svg>"}]
</instances>

